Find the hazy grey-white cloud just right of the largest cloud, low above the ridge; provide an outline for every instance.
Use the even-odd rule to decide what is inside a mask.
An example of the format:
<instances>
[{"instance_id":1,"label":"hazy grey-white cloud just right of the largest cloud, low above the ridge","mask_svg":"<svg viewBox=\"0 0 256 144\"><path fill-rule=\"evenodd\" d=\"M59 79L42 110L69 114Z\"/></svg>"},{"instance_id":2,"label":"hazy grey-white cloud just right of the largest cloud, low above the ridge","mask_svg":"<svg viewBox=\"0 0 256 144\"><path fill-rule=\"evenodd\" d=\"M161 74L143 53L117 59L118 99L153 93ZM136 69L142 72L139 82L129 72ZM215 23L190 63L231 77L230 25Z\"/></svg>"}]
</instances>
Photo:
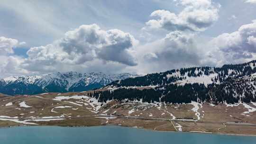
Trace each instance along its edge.
<instances>
[{"instance_id":1,"label":"hazy grey-white cloud just right of the largest cloud, low above the ridge","mask_svg":"<svg viewBox=\"0 0 256 144\"><path fill-rule=\"evenodd\" d=\"M195 34L174 31L155 42L140 45L137 50L139 73L164 72L170 69L200 65L201 54Z\"/></svg>"}]
</instances>

